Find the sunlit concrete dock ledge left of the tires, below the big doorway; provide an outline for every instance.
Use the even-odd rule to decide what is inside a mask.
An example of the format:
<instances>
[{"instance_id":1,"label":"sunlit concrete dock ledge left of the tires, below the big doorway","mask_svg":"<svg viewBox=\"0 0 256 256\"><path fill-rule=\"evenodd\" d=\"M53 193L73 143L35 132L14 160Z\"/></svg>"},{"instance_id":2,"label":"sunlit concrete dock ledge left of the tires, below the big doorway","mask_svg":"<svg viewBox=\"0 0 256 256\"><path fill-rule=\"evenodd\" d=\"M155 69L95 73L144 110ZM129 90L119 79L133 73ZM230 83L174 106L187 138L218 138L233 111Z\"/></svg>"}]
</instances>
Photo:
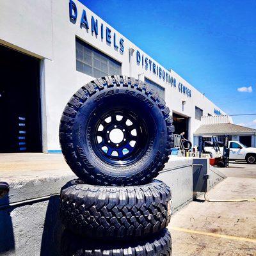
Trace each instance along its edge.
<instances>
[{"instance_id":1,"label":"sunlit concrete dock ledge left of the tires, below the big doorway","mask_svg":"<svg viewBox=\"0 0 256 256\"><path fill-rule=\"evenodd\" d=\"M10 185L6 205L60 193L69 180L76 179L62 154L0 154L1 181Z\"/></svg>"}]
</instances>

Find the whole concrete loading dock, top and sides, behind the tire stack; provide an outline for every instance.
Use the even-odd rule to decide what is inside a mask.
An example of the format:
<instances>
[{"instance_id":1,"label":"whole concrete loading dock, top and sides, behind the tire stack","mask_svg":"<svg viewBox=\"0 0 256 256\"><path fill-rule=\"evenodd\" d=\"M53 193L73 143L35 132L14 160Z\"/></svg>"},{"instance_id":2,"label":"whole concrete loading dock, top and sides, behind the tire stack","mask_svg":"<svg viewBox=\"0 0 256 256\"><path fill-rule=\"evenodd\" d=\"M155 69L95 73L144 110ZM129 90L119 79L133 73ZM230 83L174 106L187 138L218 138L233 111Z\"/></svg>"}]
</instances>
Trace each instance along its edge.
<instances>
[{"instance_id":1,"label":"whole concrete loading dock, top and sides, behind the tire stack","mask_svg":"<svg viewBox=\"0 0 256 256\"><path fill-rule=\"evenodd\" d=\"M2 180L10 184L8 196L0 198L0 255L59 256L60 188L76 175L61 154L1 154L0 158ZM193 161L171 157L157 177L172 188L173 212L193 200ZM209 176L210 187L222 180L213 172Z\"/></svg>"}]
</instances>

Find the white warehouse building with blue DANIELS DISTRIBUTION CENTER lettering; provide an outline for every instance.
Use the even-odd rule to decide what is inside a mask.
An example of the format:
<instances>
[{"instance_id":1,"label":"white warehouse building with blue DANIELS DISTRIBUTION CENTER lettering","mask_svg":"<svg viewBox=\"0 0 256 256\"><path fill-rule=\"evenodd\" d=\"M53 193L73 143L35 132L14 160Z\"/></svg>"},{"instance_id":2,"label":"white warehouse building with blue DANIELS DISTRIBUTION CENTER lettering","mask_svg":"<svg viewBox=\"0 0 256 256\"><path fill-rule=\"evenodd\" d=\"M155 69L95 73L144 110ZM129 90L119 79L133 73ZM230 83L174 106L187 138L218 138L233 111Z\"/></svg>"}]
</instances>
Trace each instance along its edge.
<instances>
[{"instance_id":1,"label":"white warehouse building with blue DANIELS DISTRIBUTION CENTER lettering","mask_svg":"<svg viewBox=\"0 0 256 256\"><path fill-rule=\"evenodd\" d=\"M152 84L192 142L202 116L225 115L77 0L1 1L0 13L0 152L58 152L63 109L95 77Z\"/></svg>"}]
</instances>

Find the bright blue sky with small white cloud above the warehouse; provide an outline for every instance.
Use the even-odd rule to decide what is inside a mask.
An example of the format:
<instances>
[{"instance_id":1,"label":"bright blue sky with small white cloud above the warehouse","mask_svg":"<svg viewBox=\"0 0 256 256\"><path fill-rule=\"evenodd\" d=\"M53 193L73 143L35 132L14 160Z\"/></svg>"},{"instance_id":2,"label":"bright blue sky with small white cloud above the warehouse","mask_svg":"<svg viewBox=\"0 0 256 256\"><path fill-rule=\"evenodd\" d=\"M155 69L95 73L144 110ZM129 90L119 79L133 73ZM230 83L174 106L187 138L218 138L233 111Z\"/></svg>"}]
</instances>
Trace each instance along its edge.
<instances>
[{"instance_id":1,"label":"bright blue sky with small white cloud above the warehouse","mask_svg":"<svg viewBox=\"0 0 256 256\"><path fill-rule=\"evenodd\" d=\"M256 1L80 1L226 113L256 113Z\"/></svg>"}]
</instances>

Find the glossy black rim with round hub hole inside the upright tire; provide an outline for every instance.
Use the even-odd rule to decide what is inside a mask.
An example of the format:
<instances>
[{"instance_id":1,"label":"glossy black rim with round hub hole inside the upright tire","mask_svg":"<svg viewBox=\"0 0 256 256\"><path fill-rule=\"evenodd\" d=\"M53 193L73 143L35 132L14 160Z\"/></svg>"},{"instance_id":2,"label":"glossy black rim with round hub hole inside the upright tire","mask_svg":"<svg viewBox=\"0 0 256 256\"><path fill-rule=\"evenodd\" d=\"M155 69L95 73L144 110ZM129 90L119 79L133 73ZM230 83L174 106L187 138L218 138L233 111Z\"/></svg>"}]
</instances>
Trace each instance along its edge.
<instances>
[{"instance_id":1,"label":"glossy black rim with round hub hole inside the upright tire","mask_svg":"<svg viewBox=\"0 0 256 256\"><path fill-rule=\"evenodd\" d=\"M138 161L147 150L148 128L132 111L113 110L96 117L92 132L93 150L109 164Z\"/></svg>"}]
</instances>

